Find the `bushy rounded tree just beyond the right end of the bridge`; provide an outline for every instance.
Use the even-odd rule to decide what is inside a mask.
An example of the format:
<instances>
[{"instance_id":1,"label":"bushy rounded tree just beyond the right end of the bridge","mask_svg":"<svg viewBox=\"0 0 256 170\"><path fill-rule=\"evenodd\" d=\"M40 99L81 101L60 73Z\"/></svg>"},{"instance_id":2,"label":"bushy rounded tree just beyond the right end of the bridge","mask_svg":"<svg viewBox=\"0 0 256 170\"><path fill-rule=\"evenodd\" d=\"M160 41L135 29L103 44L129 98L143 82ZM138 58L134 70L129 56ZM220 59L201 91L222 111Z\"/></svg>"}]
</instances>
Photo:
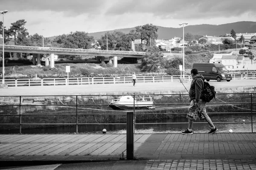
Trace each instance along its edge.
<instances>
[{"instance_id":1,"label":"bushy rounded tree just beyond the right end of the bridge","mask_svg":"<svg viewBox=\"0 0 256 170\"><path fill-rule=\"evenodd\" d=\"M161 51L157 46L151 46L141 59L140 68L142 71L157 71L159 67L165 67L166 62L161 56Z\"/></svg>"}]
</instances>

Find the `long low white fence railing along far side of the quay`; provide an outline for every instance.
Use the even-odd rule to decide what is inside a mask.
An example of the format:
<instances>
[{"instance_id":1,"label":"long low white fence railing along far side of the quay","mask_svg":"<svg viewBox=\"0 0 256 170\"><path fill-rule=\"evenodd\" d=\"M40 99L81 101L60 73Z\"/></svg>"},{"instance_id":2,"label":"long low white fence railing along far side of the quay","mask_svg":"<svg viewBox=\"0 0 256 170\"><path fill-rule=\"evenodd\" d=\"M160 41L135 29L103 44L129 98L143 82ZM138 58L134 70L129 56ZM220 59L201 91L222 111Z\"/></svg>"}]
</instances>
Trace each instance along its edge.
<instances>
[{"instance_id":1,"label":"long low white fence railing along far side of the quay","mask_svg":"<svg viewBox=\"0 0 256 170\"><path fill-rule=\"evenodd\" d=\"M185 79L191 80L190 75L185 75ZM232 73L233 79L256 79L256 73ZM179 82L183 76L137 76L137 82ZM2 83L0 79L0 83ZM5 79L8 86L44 86L44 85L90 85L107 83L129 83L131 76L120 77L77 77L77 78L44 78L44 79Z\"/></svg>"}]
</instances>

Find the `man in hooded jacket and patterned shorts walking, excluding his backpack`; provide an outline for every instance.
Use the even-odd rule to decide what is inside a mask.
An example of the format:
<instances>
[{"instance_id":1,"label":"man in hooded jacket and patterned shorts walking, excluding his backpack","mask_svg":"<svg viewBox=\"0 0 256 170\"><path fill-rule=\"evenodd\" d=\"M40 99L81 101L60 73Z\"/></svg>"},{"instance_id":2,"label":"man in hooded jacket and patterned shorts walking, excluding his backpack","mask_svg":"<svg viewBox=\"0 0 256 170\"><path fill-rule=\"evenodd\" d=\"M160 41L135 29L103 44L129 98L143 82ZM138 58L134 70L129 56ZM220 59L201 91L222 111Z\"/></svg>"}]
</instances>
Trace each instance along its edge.
<instances>
[{"instance_id":1,"label":"man in hooded jacket and patterned shorts walking, excluding his backpack","mask_svg":"<svg viewBox=\"0 0 256 170\"><path fill-rule=\"evenodd\" d=\"M189 111L186 118L189 119L189 128L181 132L184 135L193 134L193 122L198 118L198 112L202 114L203 119L209 123L211 130L209 134L213 134L218 131L218 129L213 125L212 120L206 113L206 102L201 99L201 93L204 89L204 77L198 74L198 70L193 68L191 70L191 76L193 78L190 89L189 89ZM202 120L202 119L201 119Z\"/></svg>"}]
</instances>

